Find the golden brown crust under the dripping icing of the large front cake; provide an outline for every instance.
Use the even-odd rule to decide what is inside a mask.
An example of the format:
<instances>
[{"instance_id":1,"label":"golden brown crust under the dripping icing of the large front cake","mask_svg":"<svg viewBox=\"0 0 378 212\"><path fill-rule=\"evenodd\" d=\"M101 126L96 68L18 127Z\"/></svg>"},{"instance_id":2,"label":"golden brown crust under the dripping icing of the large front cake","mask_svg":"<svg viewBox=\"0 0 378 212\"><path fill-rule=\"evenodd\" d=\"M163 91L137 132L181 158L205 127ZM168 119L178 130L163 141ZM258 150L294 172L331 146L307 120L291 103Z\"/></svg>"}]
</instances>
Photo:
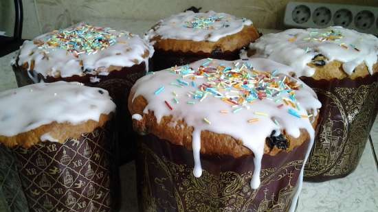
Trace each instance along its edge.
<instances>
[{"instance_id":1,"label":"golden brown crust under the dripping icing of the large front cake","mask_svg":"<svg viewBox=\"0 0 378 212\"><path fill-rule=\"evenodd\" d=\"M138 96L134 99L134 101L131 101L133 94L133 91L131 91L129 96L129 110L131 114L144 114L143 110L148 102L142 96ZM192 150L193 127L187 126L184 120L177 121L175 126L171 126L169 124L171 119L172 117L163 117L160 123L157 123L155 115L150 112L148 114L144 114L141 121L133 119L133 128L140 134L153 133L160 139L166 139L170 143L175 145L183 145L188 150ZM315 128L317 124L318 117L316 117L313 127ZM300 137L298 138L293 138L287 135L285 132L282 132L289 141L289 148L286 150L287 152L309 140L309 133L307 133L306 130L301 129L300 132ZM271 149L267 146L267 144L265 144L265 154L274 156L282 151L283 150L276 147ZM242 141L234 139L227 134L217 134L207 130L201 132L201 153L217 155L227 154L234 156L235 158L247 154L253 154L251 150L243 145Z\"/></svg>"}]
</instances>

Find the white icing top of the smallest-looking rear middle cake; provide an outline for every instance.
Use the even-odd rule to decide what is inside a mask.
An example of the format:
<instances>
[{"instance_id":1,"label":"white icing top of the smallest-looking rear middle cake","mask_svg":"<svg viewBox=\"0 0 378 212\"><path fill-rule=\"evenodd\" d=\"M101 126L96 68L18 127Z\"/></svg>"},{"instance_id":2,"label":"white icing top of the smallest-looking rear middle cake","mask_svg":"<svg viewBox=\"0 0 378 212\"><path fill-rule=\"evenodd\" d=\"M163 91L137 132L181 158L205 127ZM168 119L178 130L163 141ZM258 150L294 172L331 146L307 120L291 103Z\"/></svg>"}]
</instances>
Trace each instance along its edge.
<instances>
[{"instance_id":1,"label":"white icing top of the smallest-looking rear middle cake","mask_svg":"<svg viewBox=\"0 0 378 212\"><path fill-rule=\"evenodd\" d=\"M214 23L207 25L208 27L196 28L192 27L192 21L195 18L222 17ZM203 22L199 22L203 23ZM190 27L188 27L188 25ZM223 12L199 12L192 11L181 12L163 19L157 23L157 26L147 32L147 38L151 39L160 36L163 39L177 40L194 40L194 41L211 41L216 42L225 36L236 34L243 30L245 25L252 25L252 21L247 19L238 19L235 16Z\"/></svg>"}]
</instances>

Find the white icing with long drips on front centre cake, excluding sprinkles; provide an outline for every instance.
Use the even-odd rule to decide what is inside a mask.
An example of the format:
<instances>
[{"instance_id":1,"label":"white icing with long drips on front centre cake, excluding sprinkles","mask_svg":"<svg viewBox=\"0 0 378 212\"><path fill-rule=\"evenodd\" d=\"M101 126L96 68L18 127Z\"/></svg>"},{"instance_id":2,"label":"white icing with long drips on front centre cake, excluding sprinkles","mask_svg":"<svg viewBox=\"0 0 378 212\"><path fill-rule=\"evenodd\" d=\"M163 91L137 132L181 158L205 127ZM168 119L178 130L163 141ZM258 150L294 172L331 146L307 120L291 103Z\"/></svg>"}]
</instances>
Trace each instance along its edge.
<instances>
[{"instance_id":1,"label":"white icing with long drips on front centre cake, excluding sprinkles","mask_svg":"<svg viewBox=\"0 0 378 212\"><path fill-rule=\"evenodd\" d=\"M252 64L255 69L261 71L278 70L289 72L289 70L292 69L283 64L269 61L270 60L263 58L253 58L247 61L236 60L234 62L205 59L194 62L190 64L189 67L197 70L198 67L204 63L208 64L210 67L216 67L219 64L225 67L230 67L232 64L242 64L245 62L245 64ZM249 71L249 73L252 72ZM283 75L279 75L281 78L284 78ZM286 78L289 78L289 76L286 76ZM193 82L195 83L195 87L190 83L187 86L181 84L181 88L177 87L177 84L171 84L172 82L177 82L177 79L190 82L189 78L183 79L181 78L181 75L173 73L170 69L146 75L143 78L140 78L140 80L137 80L133 86L132 91L135 92L133 100L135 97L142 95L148 101L148 105L144 108L143 113L153 112L158 123L162 120L162 117L172 115L173 122L176 123L176 121L184 119L188 126L194 128L192 132L192 149L194 156L193 174L196 177L201 176L202 172L200 149L201 132L203 130L209 130L219 134L228 134L234 137L234 139L243 141L243 145L254 152L255 168L251 180L251 187L253 189L258 188L260 185L260 169L264 153L265 139L271 135L271 132L274 130L276 130L276 132L285 130L287 134L290 134L293 137L299 137L300 129L303 128L309 132L311 137L309 147L312 146L314 130L311 126L311 121L307 118L298 118L287 113L287 110L290 108L288 105L282 105L278 108L278 105L281 103L275 102L276 97L274 97L273 100L267 98L262 100L257 99L253 104L241 106L241 110L238 110L237 113L233 113L233 110L235 109L232 108L232 106L223 102L221 98L214 97L211 94L201 100L193 100L192 97L188 96L188 93L198 91L197 86L208 82L205 77L194 78L195 80ZM293 78L290 79L293 80ZM316 98L315 93L300 80L297 80L297 83L302 85L300 89L296 91L296 99L298 104L300 104L298 114L305 116L307 115L307 111L313 110L314 112L317 112L321 104ZM236 91L238 90L231 89L231 91L225 91L226 93L223 93L223 95L231 95ZM277 96L278 99L282 97L288 97L288 94L284 92ZM176 98L177 101L173 101L173 98ZM164 101L167 101L173 110L170 110ZM188 101L195 102L195 104L187 104ZM282 99L278 101L282 101ZM222 110L227 110L229 113L220 113ZM266 116L261 114L265 114ZM253 118L258 118L258 121L256 123L249 123L248 120ZM276 119L279 124L277 125L272 119ZM310 148L307 152L306 158L309 155L309 151ZM302 180L302 176L300 180ZM298 192L299 191L300 189L298 189Z\"/></svg>"}]
</instances>

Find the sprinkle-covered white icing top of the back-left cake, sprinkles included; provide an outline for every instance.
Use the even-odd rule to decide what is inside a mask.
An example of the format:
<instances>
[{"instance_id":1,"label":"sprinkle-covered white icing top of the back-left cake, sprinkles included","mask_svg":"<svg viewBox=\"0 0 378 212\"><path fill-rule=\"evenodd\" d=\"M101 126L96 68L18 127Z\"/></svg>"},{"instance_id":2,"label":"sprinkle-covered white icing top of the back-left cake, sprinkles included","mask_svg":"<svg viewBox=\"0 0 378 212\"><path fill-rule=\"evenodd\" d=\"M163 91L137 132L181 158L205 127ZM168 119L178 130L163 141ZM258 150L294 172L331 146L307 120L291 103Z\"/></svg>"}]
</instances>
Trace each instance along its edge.
<instances>
[{"instance_id":1,"label":"sprinkle-covered white icing top of the back-left cake, sprinkles included","mask_svg":"<svg viewBox=\"0 0 378 212\"><path fill-rule=\"evenodd\" d=\"M112 67L132 67L153 55L153 47L137 35L111 28L80 23L65 30L26 40L20 50L18 65L27 62L27 71L44 77L107 75ZM30 75L34 82L37 78Z\"/></svg>"}]
</instances>

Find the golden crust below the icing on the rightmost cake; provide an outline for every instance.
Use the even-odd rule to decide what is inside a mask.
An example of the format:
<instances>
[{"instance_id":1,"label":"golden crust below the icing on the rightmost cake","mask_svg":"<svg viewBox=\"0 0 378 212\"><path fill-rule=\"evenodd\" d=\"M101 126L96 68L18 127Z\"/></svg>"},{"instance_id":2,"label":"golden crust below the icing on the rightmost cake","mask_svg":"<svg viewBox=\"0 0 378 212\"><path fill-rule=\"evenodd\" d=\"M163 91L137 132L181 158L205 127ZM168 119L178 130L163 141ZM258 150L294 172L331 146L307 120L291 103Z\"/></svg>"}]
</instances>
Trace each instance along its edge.
<instances>
[{"instance_id":1,"label":"golden crust below the icing on the rightmost cake","mask_svg":"<svg viewBox=\"0 0 378 212\"><path fill-rule=\"evenodd\" d=\"M366 64L364 62L362 64L359 64L351 75L345 73L344 69L342 68L342 64L342 62L334 60L326 63L324 66L316 66L312 63L309 63L307 65L316 70L315 73L311 76L311 78L313 78L314 80L331 80L334 78L339 80L343 78L351 78L352 80L354 80L355 78L364 78L366 75L370 75L368 67L366 67ZM375 63L373 65L373 73L377 72L378 63Z\"/></svg>"}]
</instances>

